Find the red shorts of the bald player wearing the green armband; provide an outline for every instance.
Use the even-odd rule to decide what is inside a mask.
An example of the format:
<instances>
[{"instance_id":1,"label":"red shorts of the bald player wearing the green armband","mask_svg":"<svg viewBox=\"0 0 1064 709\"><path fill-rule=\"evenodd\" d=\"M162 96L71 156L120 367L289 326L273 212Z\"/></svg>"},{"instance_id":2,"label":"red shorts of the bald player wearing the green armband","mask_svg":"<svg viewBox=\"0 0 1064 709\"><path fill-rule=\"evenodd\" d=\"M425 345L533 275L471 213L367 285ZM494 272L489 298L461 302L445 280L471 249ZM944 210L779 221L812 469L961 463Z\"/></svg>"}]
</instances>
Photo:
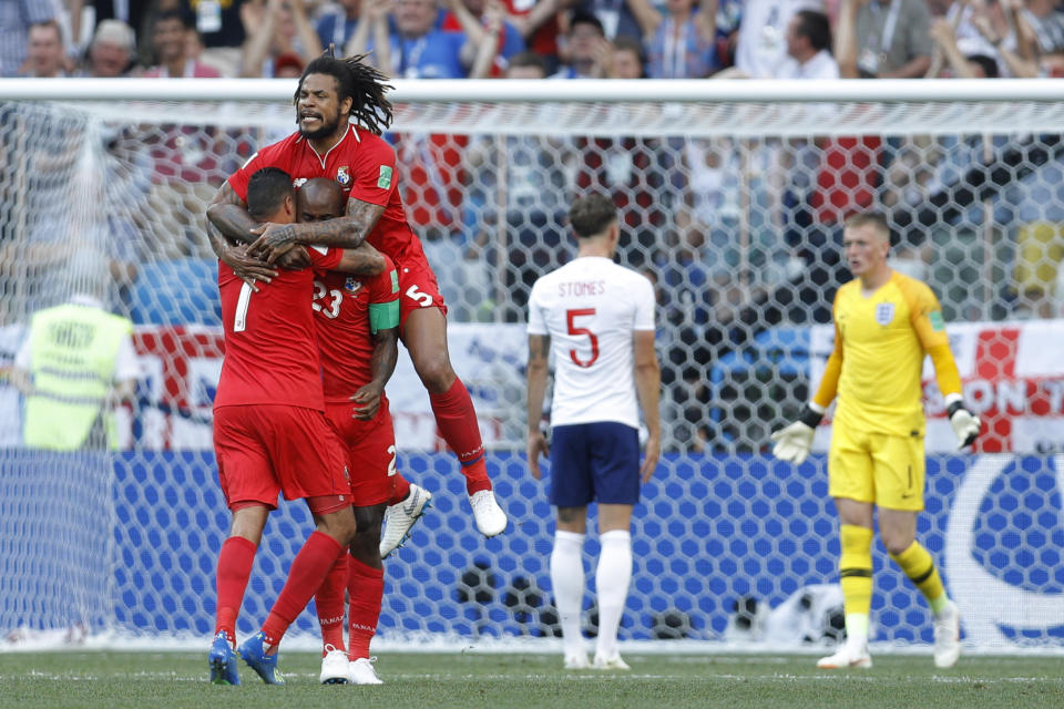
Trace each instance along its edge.
<instances>
[{"instance_id":1,"label":"red shorts of the bald player wearing the green armband","mask_svg":"<svg viewBox=\"0 0 1064 709\"><path fill-rule=\"evenodd\" d=\"M381 397L380 410L372 421L351 415L350 403L326 403L329 423L340 434L350 471L351 497L356 507L369 507L391 500L396 486L396 431Z\"/></svg>"}]
</instances>

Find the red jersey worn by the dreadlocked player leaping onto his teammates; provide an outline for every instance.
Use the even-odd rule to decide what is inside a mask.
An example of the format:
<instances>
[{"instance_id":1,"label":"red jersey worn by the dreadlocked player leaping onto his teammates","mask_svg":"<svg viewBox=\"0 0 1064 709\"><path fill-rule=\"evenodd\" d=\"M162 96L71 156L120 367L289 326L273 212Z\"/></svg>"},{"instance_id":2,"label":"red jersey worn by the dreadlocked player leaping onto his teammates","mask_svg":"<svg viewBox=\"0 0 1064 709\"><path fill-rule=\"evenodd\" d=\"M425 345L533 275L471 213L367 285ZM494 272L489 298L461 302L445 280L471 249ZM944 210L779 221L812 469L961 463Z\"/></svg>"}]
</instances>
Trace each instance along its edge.
<instances>
[{"instance_id":1,"label":"red jersey worn by the dreadlocked player leaping onto his teammates","mask_svg":"<svg viewBox=\"0 0 1064 709\"><path fill-rule=\"evenodd\" d=\"M345 196L385 207L366 240L396 264L424 260L421 242L407 223L402 198L396 189L396 152L379 135L351 124L339 143L318 155L297 131L252 155L229 176L229 185L241 199L247 202L247 181L263 167L285 171L297 188L315 177L335 179Z\"/></svg>"}]
</instances>

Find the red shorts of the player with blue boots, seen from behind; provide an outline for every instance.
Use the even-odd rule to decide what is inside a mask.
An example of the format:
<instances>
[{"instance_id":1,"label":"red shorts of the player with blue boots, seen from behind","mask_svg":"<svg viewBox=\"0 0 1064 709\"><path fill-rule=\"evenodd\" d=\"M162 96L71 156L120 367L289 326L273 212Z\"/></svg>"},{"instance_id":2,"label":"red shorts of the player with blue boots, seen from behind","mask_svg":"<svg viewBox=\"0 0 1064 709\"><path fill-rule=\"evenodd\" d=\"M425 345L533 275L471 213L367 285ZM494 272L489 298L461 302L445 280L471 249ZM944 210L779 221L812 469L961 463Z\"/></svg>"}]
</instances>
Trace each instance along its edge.
<instances>
[{"instance_id":1,"label":"red shorts of the player with blue boots, seen from behind","mask_svg":"<svg viewBox=\"0 0 1064 709\"><path fill-rule=\"evenodd\" d=\"M344 449L320 411L282 404L214 410L218 481L231 510L307 499L311 512L350 506Z\"/></svg>"}]
</instances>

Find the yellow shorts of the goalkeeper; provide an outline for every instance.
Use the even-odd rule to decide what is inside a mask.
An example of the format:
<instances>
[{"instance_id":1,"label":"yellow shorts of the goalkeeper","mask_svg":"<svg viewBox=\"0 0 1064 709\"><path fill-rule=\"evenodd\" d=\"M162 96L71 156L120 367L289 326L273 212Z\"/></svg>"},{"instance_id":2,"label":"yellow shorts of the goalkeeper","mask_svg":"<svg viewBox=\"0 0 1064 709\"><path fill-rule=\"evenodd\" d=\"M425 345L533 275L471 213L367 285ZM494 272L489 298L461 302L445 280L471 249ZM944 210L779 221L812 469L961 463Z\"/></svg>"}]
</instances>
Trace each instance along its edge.
<instances>
[{"instance_id":1,"label":"yellow shorts of the goalkeeper","mask_svg":"<svg viewBox=\"0 0 1064 709\"><path fill-rule=\"evenodd\" d=\"M923 436L864 433L838 424L828 453L828 493L888 510L923 510Z\"/></svg>"}]
</instances>

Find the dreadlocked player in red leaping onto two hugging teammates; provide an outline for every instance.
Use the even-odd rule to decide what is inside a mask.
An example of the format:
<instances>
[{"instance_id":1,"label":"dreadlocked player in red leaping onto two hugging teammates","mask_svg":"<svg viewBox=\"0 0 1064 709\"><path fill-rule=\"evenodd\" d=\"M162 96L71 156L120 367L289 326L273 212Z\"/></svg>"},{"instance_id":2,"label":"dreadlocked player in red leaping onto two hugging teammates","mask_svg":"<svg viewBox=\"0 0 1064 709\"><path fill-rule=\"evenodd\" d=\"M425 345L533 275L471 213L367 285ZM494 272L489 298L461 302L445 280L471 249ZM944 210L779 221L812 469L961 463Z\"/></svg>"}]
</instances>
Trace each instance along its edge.
<instances>
[{"instance_id":1,"label":"dreadlocked player in red leaping onto two hugging teammates","mask_svg":"<svg viewBox=\"0 0 1064 709\"><path fill-rule=\"evenodd\" d=\"M399 275L399 335L429 391L440 434L458 455L477 527L500 534L507 515L499 507L484 466L484 446L472 400L447 351L447 306L421 243L410 229L396 189L395 151L380 137L391 123L385 76L360 56L323 55L310 62L295 94L299 130L267 145L222 185L207 209L208 233L219 258L247 279L266 279L273 264L297 244L354 248L369 242L395 261ZM258 225L246 212L248 176L280 167L297 184L335 179L347 196L345 216L316 224ZM253 243L254 242L254 243ZM236 244L253 243L242 250Z\"/></svg>"}]
</instances>

